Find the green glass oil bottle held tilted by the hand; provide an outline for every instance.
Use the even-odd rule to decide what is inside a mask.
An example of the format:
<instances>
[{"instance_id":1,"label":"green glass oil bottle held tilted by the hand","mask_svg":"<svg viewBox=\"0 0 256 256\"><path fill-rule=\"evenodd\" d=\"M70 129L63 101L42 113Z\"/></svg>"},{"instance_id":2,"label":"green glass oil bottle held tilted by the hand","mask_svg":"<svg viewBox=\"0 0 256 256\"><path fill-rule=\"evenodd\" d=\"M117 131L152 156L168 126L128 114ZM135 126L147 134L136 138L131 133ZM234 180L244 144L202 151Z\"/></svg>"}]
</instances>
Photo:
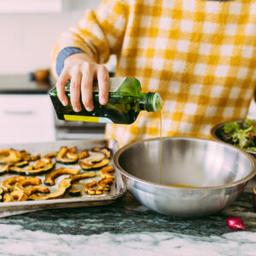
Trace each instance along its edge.
<instances>
[{"instance_id":1,"label":"green glass oil bottle held tilted by the hand","mask_svg":"<svg viewBox=\"0 0 256 256\"><path fill-rule=\"evenodd\" d=\"M66 95L70 99L69 82L66 85ZM82 110L79 113L74 112L70 101L64 107L57 97L56 88L50 90L49 96L59 119L125 125L132 124L142 110L158 111L162 102L158 93L143 93L140 82L133 78L110 78L106 105L99 103L98 84L94 81L94 109L90 112L85 110L83 104L81 104Z\"/></svg>"}]
</instances>

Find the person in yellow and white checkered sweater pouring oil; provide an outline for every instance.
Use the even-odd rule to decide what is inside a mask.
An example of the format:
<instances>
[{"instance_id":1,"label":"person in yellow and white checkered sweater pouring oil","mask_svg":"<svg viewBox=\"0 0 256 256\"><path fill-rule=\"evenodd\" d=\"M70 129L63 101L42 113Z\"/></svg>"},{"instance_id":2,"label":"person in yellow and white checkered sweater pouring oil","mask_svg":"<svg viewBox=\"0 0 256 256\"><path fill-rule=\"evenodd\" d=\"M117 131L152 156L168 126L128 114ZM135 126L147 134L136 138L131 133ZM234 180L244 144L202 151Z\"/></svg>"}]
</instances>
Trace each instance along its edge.
<instances>
[{"instance_id":1,"label":"person in yellow and white checkered sweater pouring oil","mask_svg":"<svg viewBox=\"0 0 256 256\"><path fill-rule=\"evenodd\" d=\"M116 77L135 77L163 100L162 135L211 138L212 126L246 117L256 82L256 3L252 0L104 0L61 34L52 55L58 97L93 109L92 81L108 102L110 55ZM107 125L120 146L160 136L160 113Z\"/></svg>"}]
</instances>

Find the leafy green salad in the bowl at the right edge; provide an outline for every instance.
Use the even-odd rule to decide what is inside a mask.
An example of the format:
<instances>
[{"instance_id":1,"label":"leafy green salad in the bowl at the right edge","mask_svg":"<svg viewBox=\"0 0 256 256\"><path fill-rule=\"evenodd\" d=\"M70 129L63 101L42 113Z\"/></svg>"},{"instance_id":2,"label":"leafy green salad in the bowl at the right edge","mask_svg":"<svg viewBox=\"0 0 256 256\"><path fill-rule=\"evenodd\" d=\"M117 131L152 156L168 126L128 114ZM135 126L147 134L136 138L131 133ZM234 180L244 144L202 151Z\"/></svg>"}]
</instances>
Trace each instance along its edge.
<instances>
[{"instance_id":1,"label":"leafy green salad in the bowl at the right edge","mask_svg":"<svg viewBox=\"0 0 256 256\"><path fill-rule=\"evenodd\" d=\"M256 120L245 118L242 122L226 123L222 137L226 143L256 152Z\"/></svg>"}]
</instances>

